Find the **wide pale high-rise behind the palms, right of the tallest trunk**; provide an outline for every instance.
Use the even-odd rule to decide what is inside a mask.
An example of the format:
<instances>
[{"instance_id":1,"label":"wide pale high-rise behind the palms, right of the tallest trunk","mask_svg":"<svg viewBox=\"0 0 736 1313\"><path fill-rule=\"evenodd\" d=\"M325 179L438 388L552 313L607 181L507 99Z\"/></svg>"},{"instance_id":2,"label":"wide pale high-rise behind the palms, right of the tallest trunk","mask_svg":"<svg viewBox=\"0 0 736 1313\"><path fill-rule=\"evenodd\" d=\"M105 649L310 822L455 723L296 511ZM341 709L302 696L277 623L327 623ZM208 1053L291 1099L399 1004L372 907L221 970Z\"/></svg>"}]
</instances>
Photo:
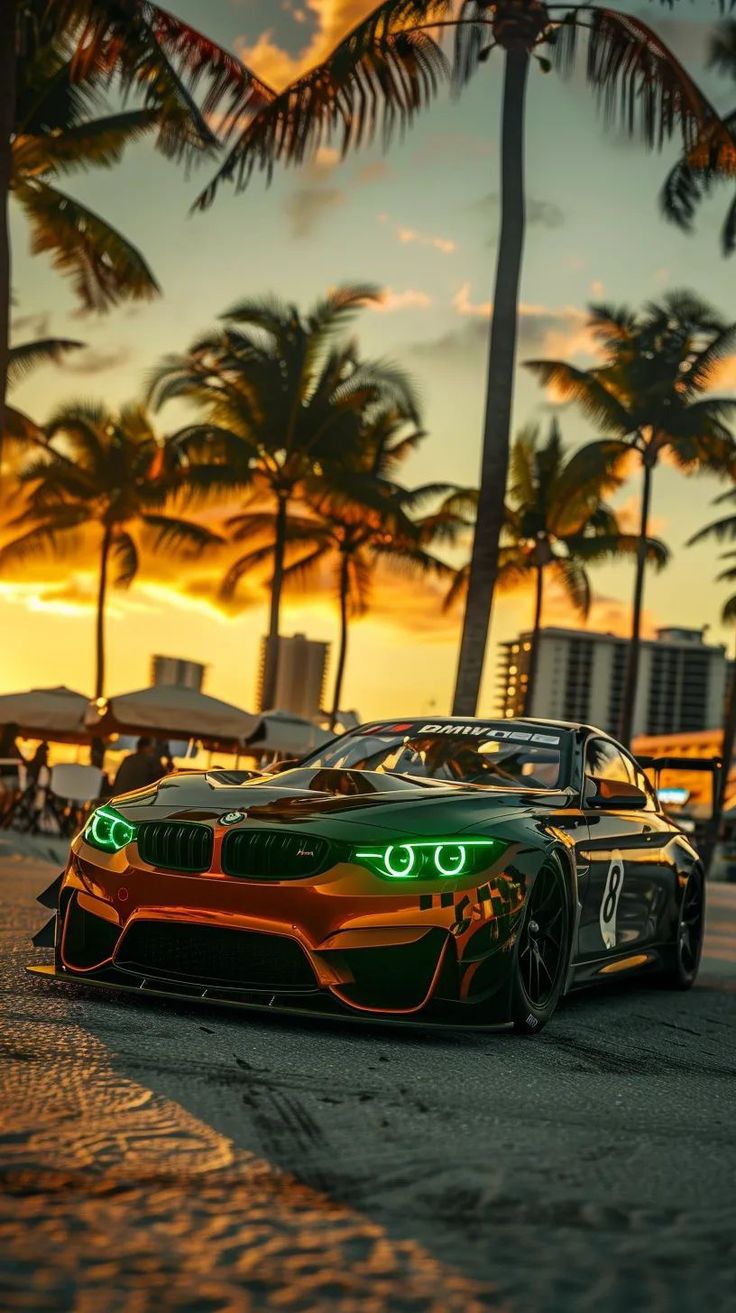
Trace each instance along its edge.
<instances>
[{"instance_id":1,"label":"wide pale high-rise behind the palms, right of the tallest trunk","mask_svg":"<svg viewBox=\"0 0 736 1313\"><path fill-rule=\"evenodd\" d=\"M615 734L628 639L579 629L542 629L530 716L581 721ZM502 716L521 716L531 634L501 645ZM634 734L680 734L719 726L726 699L726 649L702 629L659 629L644 639L634 708Z\"/></svg>"}]
</instances>

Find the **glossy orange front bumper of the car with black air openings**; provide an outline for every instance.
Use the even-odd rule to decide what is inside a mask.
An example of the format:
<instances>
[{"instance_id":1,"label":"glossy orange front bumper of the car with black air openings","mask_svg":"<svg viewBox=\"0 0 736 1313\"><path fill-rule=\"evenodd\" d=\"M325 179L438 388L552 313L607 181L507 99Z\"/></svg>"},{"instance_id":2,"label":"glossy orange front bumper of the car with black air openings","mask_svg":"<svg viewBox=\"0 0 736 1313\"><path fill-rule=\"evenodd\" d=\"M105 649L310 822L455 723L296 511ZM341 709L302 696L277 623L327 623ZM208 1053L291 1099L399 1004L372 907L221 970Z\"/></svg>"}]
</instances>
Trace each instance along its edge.
<instances>
[{"instance_id":1,"label":"glossy orange front bumper of the car with black air openings","mask_svg":"<svg viewBox=\"0 0 736 1313\"><path fill-rule=\"evenodd\" d=\"M475 884L383 892L348 863L265 884L89 853L75 843L64 873L56 978L299 1014L506 1020L525 890L502 863Z\"/></svg>"}]
</instances>

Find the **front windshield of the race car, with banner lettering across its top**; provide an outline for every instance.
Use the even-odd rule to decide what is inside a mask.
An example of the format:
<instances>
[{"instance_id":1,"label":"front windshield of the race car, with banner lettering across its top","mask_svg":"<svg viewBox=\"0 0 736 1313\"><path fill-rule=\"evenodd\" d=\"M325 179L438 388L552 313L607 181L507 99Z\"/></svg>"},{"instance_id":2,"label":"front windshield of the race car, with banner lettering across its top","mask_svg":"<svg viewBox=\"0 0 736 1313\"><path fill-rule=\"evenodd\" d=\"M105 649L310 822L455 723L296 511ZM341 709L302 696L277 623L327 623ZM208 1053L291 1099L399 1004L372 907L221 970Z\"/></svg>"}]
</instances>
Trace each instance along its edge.
<instances>
[{"instance_id":1,"label":"front windshield of the race car, with banner lettering across its top","mask_svg":"<svg viewBox=\"0 0 736 1313\"><path fill-rule=\"evenodd\" d=\"M514 730L502 723L417 723L356 730L304 764L489 788L555 789L560 784L560 760L562 741L552 733Z\"/></svg>"}]
</instances>

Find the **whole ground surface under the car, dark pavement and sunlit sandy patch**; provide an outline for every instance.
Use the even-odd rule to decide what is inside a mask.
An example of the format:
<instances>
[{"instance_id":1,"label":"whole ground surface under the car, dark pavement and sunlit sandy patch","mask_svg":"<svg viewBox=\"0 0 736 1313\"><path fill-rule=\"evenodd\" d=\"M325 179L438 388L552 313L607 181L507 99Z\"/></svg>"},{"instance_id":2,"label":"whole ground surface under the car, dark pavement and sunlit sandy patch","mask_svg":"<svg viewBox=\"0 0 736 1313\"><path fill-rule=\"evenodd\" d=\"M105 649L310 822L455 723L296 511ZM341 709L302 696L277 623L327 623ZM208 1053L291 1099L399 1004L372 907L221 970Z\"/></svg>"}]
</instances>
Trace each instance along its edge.
<instances>
[{"instance_id":1,"label":"whole ground surface under the car, dark pavement and sunlit sandy patch","mask_svg":"<svg viewBox=\"0 0 736 1313\"><path fill-rule=\"evenodd\" d=\"M0 1308L733 1309L736 888L691 994L517 1040L43 987L52 873L0 863Z\"/></svg>"}]
</instances>

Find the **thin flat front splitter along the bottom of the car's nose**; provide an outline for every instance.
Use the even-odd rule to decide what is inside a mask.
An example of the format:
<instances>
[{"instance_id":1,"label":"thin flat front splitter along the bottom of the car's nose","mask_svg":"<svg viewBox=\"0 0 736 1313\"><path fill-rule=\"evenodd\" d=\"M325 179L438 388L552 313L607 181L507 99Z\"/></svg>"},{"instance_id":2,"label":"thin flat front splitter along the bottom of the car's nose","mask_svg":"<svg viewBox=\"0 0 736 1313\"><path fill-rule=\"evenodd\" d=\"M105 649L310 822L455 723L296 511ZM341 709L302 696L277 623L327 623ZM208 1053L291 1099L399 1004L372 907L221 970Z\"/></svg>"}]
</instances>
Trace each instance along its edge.
<instances>
[{"instance_id":1,"label":"thin flat front splitter along the bottom of the car's nose","mask_svg":"<svg viewBox=\"0 0 736 1313\"><path fill-rule=\"evenodd\" d=\"M509 1031L512 1028L510 1022L502 1023L488 1023L478 1024L475 1022L464 1022L462 1018L441 1020L434 1018L420 1018L412 1014L405 1014L404 1016L386 1016L380 1012L353 1012L337 999L324 999L324 1004L320 1007L315 1006L295 1006L293 1002L283 998L283 995L273 994L269 997L268 1002L248 999L234 999L222 998L218 990L202 989L197 985L180 985L174 987L167 987L163 981L152 981L148 978L142 978L138 985L127 985L119 982L118 979L100 979L100 977L93 978L91 976L70 976L68 972L58 972L55 966L26 966L26 973L29 976L41 977L43 981L60 983L60 985L81 985L83 987L106 990L109 994L135 994L136 998L165 998L176 1003L203 1003L206 1007L228 1007L236 1008L239 1012L270 1012L272 1016L276 1014L278 1016L306 1016L317 1022L348 1022L357 1023L362 1025L390 1025L394 1028L400 1028L405 1031L420 1029L420 1031L454 1031L455 1033L462 1033L463 1031L474 1031L485 1035L497 1033L500 1031Z\"/></svg>"}]
</instances>

